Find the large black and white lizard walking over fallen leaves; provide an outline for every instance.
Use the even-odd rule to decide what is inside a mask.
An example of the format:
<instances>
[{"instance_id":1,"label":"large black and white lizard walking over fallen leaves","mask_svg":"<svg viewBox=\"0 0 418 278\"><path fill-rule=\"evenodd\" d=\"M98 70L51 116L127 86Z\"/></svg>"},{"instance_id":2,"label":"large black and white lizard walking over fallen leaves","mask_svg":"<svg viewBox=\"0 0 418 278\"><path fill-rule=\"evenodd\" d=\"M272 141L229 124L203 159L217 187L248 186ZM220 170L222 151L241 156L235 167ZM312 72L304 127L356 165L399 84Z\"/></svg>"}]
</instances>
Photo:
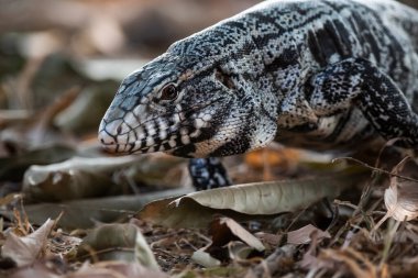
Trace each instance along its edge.
<instances>
[{"instance_id":1,"label":"large black and white lizard walking over fallen leaves","mask_svg":"<svg viewBox=\"0 0 418 278\"><path fill-rule=\"evenodd\" d=\"M99 129L113 153L220 157L272 141L418 149L418 12L389 0L277 0L174 43L128 76ZM223 186L193 159L197 187ZM212 182L212 184L208 184Z\"/></svg>"}]
</instances>

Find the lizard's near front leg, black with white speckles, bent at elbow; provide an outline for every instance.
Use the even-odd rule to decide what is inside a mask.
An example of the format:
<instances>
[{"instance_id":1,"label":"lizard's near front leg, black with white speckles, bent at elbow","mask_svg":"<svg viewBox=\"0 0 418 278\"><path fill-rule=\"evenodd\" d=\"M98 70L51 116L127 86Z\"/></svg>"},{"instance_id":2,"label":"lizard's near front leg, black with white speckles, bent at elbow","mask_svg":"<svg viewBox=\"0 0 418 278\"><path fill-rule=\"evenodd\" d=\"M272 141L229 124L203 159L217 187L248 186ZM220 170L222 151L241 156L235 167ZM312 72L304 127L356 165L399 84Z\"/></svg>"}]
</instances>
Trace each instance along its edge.
<instances>
[{"instance_id":1,"label":"lizard's near front leg, black with white speckles, bent at elbow","mask_svg":"<svg viewBox=\"0 0 418 278\"><path fill-rule=\"evenodd\" d=\"M316 75L307 99L317 115L332 115L356 105L385 140L418 148L418 115L399 87L374 64L349 58Z\"/></svg>"}]
</instances>

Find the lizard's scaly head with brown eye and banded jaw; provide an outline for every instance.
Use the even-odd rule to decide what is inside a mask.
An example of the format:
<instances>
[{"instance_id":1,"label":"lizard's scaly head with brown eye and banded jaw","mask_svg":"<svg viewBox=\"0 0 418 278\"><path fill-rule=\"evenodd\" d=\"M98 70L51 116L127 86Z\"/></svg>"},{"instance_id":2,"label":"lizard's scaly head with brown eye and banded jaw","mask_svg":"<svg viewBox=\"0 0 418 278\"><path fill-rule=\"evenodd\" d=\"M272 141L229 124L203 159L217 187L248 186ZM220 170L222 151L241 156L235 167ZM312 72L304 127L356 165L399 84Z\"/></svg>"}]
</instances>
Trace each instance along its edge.
<instances>
[{"instance_id":1,"label":"lizard's scaly head with brown eye and banded jaw","mask_svg":"<svg viewBox=\"0 0 418 278\"><path fill-rule=\"evenodd\" d=\"M128 76L101 121L103 147L120 154L207 157L244 153L272 141L275 123L265 127L267 122L254 121L258 101L253 88L217 65L166 53Z\"/></svg>"}]
</instances>

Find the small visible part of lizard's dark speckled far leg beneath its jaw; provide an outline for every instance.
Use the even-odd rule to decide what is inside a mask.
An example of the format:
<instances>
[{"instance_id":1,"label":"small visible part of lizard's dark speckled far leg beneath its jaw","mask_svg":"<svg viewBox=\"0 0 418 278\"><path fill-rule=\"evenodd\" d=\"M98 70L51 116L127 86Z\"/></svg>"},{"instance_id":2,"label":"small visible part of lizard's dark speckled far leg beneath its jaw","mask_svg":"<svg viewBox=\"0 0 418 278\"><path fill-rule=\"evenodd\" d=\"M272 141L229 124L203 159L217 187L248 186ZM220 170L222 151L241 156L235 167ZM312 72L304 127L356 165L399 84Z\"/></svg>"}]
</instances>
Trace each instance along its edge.
<instances>
[{"instance_id":1,"label":"small visible part of lizard's dark speckled far leg beneath its jaw","mask_svg":"<svg viewBox=\"0 0 418 278\"><path fill-rule=\"evenodd\" d=\"M231 185L226 168L217 157L191 158L188 170L196 190L205 190Z\"/></svg>"}]
</instances>

